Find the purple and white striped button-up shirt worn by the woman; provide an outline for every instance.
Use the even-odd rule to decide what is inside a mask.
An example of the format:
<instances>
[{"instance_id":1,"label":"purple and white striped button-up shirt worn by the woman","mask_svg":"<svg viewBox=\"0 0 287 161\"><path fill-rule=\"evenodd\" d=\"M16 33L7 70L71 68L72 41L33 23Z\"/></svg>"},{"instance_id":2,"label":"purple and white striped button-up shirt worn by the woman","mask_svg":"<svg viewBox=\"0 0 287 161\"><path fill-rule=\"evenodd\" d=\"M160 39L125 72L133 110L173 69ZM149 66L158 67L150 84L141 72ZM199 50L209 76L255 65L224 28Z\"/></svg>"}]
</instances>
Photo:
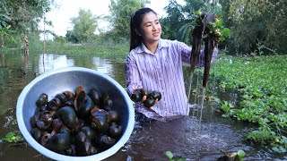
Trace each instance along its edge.
<instances>
[{"instance_id":1,"label":"purple and white striped button-up shirt worn by the woman","mask_svg":"<svg viewBox=\"0 0 287 161\"><path fill-rule=\"evenodd\" d=\"M125 69L128 94L134 89L161 92L161 100L153 106L153 111L143 103L136 103L137 112L156 120L189 114L182 63L190 63L190 54L191 47L168 39L160 39L154 55L143 44L129 53ZM199 66L204 64L203 54L202 51ZM213 52L215 55L217 49Z\"/></svg>"}]
</instances>

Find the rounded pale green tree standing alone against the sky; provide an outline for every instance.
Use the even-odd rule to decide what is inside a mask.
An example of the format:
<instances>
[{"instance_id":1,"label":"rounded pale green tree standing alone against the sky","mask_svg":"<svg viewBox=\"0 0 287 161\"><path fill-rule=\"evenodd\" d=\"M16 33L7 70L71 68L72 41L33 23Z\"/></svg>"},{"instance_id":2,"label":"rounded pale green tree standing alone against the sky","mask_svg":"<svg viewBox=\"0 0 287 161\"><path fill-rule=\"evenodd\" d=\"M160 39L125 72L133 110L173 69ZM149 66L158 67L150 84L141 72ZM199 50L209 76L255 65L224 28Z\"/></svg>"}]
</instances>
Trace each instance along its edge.
<instances>
[{"instance_id":1,"label":"rounded pale green tree standing alone against the sky","mask_svg":"<svg viewBox=\"0 0 287 161\"><path fill-rule=\"evenodd\" d=\"M97 18L92 15L91 10L80 9L79 16L71 19L74 29L67 31L65 36L68 41L83 43L94 38L94 32L98 27Z\"/></svg>"}]
</instances>

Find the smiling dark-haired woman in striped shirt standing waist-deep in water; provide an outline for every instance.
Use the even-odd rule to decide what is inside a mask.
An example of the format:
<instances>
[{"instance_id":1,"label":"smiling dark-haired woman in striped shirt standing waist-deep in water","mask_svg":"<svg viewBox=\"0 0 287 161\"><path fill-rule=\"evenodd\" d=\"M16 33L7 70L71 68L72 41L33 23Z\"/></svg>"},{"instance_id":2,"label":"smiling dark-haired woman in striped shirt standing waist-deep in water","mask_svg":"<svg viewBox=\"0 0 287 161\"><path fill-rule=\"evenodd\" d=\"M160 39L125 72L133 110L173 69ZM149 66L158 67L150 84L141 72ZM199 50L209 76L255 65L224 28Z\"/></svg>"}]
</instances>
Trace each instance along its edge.
<instances>
[{"instance_id":1,"label":"smiling dark-haired woman in striped shirt standing waist-deep in water","mask_svg":"<svg viewBox=\"0 0 287 161\"><path fill-rule=\"evenodd\" d=\"M213 51L213 57L217 55ZM182 64L190 63L191 47L161 38L161 23L150 8L141 8L130 21L130 53L126 60L126 87L131 95L138 89L158 90L161 100L152 109L135 104L135 111L153 120L167 121L188 115ZM204 52L197 66L204 66ZM143 97L145 100L146 97Z\"/></svg>"}]
</instances>

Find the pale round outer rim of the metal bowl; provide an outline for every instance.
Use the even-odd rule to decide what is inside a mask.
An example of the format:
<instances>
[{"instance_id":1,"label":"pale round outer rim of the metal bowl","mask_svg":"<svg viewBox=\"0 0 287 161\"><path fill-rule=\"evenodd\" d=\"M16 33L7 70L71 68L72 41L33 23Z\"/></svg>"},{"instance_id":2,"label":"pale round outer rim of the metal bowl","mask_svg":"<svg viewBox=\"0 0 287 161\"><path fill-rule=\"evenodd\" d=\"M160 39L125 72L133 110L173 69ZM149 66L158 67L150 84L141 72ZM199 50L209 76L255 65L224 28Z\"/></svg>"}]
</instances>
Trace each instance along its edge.
<instances>
[{"instance_id":1,"label":"pale round outer rim of the metal bowl","mask_svg":"<svg viewBox=\"0 0 287 161\"><path fill-rule=\"evenodd\" d=\"M92 155L92 156L85 156L85 157L65 156L62 154L58 154L54 151L51 151L48 148L44 148L43 146L41 146L39 144L39 142L37 142L36 140L34 140L32 138L32 136L30 135L30 131L27 130L25 123L24 123L24 118L23 118L23 114L22 114L23 104L24 104L26 94L30 91L30 89L37 82L39 82L39 80L43 80L50 75L57 74L59 72L72 72L72 71L90 72L92 74L100 75L100 76L104 77L104 79L106 79L106 80L109 80L111 83L113 83L115 86L117 86L117 89L119 89L120 92L125 97L127 108L128 108L129 114L130 114L128 121L127 121L127 125L126 125L126 132L124 133L124 135L119 140L117 140L117 143L112 148L108 148L107 150L100 152L98 154ZM28 85L26 85L24 89L22 89L22 92L17 99L16 118L17 118L18 127L19 127L20 131L22 132L24 139L29 143L29 145L32 148L36 149L43 156L49 157L49 158L54 159L54 160L79 160L79 159L81 159L81 160L82 159L84 159L84 160L102 160L102 159L105 159L107 157L110 157L110 156L114 155L115 153L117 153L117 151L126 144L127 140L129 140L129 138L132 134L132 131L134 130L134 126L135 126L135 110L134 110L134 106L132 104L130 97L126 93L126 90L116 80L109 77L109 75L105 75L102 72L98 72L98 71L91 70L91 69L84 68L84 67L58 68L55 70L45 72L45 73L39 75L34 80L31 80L30 83Z\"/></svg>"}]
</instances>

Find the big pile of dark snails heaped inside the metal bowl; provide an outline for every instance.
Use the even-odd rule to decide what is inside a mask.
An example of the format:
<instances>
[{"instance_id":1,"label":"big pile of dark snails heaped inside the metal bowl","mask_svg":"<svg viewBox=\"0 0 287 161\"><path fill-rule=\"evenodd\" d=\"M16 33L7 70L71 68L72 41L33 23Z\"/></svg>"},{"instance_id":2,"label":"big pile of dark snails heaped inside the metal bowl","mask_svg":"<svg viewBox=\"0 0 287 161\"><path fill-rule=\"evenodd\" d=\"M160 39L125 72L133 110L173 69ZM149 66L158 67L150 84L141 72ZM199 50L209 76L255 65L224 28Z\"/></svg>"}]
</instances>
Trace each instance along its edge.
<instances>
[{"instance_id":1,"label":"big pile of dark snails heaped inside the metal bowl","mask_svg":"<svg viewBox=\"0 0 287 161\"><path fill-rule=\"evenodd\" d=\"M83 86L51 100L42 93L30 118L31 135L43 147L74 157L91 156L116 144L122 134L120 115L107 92Z\"/></svg>"}]
</instances>

